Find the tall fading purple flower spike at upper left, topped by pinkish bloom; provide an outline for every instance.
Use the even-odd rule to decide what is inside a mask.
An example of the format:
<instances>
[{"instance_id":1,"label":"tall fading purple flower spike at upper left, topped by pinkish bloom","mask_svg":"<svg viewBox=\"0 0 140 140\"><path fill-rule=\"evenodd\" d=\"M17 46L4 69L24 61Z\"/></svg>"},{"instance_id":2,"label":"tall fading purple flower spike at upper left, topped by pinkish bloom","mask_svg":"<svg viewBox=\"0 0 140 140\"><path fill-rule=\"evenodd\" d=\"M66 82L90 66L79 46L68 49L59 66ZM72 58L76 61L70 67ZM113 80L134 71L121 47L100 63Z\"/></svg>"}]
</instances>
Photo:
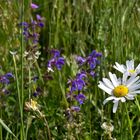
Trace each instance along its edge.
<instances>
[{"instance_id":1,"label":"tall fading purple flower spike at upper left, topped by pinkish bloom","mask_svg":"<svg viewBox=\"0 0 140 140\"><path fill-rule=\"evenodd\" d=\"M37 9L36 4L31 3L32 9ZM24 52L24 57L29 61L36 61L39 58L39 37L40 30L44 27L44 18L39 14L36 14L35 19L29 22L22 22L20 26L23 27L23 35L26 41L27 47Z\"/></svg>"}]
</instances>

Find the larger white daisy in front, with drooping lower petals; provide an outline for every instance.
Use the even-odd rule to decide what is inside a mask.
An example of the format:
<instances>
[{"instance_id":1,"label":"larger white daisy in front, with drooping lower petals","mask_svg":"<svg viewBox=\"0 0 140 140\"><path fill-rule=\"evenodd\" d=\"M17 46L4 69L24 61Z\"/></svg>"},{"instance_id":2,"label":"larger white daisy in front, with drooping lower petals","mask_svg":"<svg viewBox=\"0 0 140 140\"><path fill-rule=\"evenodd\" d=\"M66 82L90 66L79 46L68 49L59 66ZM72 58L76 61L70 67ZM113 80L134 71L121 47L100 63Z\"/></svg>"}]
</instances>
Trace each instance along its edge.
<instances>
[{"instance_id":1,"label":"larger white daisy in front, with drooping lower petals","mask_svg":"<svg viewBox=\"0 0 140 140\"><path fill-rule=\"evenodd\" d=\"M140 89L140 79L139 76L132 75L128 77L125 74L122 79L118 79L111 72L109 72L109 77L111 80L103 78L103 81L99 81L98 87L110 95L104 100L103 104L112 100L114 103L113 113L115 113L119 101L133 100L136 94L140 93L140 90L138 90Z\"/></svg>"}]
</instances>

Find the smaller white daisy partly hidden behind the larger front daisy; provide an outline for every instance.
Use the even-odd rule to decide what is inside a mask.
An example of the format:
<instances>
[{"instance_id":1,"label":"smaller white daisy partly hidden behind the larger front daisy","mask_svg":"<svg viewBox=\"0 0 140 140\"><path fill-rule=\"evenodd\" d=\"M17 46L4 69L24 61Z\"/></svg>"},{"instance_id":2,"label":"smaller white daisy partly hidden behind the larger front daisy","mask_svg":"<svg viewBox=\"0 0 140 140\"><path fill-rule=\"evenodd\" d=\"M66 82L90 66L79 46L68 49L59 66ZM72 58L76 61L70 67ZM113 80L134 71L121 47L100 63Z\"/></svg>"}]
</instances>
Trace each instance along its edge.
<instances>
[{"instance_id":1,"label":"smaller white daisy partly hidden behind the larger front daisy","mask_svg":"<svg viewBox=\"0 0 140 140\"><path fill-rule=\"evenodd\" d=\"M140 73L140 64L136 68L134 68L134 60L127 60L126 65L119 64L117 62L115 62L115 64L116 65L114 65L113 67L123 74L128 74L129 76L131 76Z\"/></svg>"}]
</instances>

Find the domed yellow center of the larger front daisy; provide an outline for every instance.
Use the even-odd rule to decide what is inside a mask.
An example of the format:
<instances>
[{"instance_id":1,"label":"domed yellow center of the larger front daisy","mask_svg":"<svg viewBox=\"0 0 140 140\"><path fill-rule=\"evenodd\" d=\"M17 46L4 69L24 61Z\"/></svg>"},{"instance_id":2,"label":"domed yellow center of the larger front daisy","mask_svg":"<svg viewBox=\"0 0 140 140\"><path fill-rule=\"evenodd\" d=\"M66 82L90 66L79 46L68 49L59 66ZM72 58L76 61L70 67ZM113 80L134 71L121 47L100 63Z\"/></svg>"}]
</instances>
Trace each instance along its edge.
<instances>
[{"instance_id":1,"label":"domed yellow center of the larger front daisy","mask_svg":"<svg viewBox=\"0 0 140 140\"><path fill-rule=\"evenodd\" d=\"M119 86L114 88L113 94L116 97L126 96L128 94L128 88L126 86L124 86L124 85L119 85Z\"/></svg>"}]
</instances>

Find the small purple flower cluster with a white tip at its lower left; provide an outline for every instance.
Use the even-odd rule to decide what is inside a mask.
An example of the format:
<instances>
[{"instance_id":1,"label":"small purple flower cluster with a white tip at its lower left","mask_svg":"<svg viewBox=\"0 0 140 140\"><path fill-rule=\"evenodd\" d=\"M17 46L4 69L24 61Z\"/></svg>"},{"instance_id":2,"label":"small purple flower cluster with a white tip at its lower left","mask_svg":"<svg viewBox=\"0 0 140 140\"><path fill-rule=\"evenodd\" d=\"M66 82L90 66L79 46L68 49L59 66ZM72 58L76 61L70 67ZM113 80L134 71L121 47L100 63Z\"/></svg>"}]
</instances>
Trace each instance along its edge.
<instances>
[{"instance_id":1,"label":"small purple flower cluster with a white tip at its lower left","mask_svg":"<svg viewBox=\"0 0 140 140\"><path fill-rule=\"evenodd\" d=\"M53 71L53 68L56 67L58 70L61 70L62 66L65 64L64 57L60 56L59 50L51 50L52 58L48 61L48 69Z\"/></svg>"}]
</instances>

